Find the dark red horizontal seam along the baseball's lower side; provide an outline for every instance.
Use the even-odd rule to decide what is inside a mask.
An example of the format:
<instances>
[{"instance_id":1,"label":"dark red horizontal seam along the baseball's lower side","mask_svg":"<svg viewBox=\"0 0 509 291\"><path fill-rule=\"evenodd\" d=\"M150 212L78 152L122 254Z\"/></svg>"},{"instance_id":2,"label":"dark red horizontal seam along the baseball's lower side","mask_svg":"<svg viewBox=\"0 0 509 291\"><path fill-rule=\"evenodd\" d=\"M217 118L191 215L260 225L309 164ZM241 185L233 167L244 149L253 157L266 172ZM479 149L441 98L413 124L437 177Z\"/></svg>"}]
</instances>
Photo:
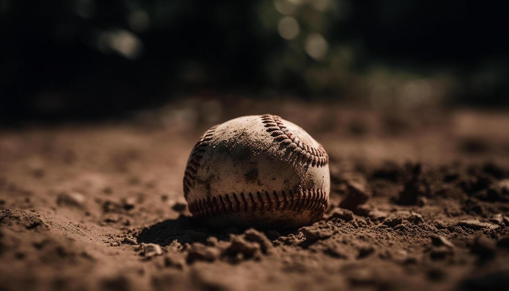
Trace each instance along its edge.
<instances>
[{"instance_id":1,"label":"dark red horizontal seam along the baseball's lower side","mask_svg":"<svg viewBox=\"0 0 509 291\"><path fill-rule=\"evenodd\" d=\"M302 191L259 191L244 194L224 194L199 198L190 203L189 210L197 218L211 218L218 215L239 212L255 212L269 210L310 210L321 213L327 208L327 196L322 189Z\"/></svg>"}]
</instances>

